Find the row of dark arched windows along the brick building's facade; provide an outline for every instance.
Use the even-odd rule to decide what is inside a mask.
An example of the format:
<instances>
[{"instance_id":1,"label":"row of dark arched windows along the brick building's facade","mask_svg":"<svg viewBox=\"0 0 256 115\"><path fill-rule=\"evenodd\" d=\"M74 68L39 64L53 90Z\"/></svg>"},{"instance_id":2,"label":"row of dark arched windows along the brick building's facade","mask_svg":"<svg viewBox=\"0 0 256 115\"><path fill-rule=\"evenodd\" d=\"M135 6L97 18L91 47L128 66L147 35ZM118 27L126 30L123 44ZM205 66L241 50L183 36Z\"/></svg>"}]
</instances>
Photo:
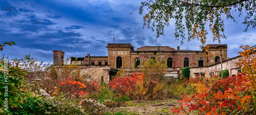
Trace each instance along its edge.
<instances>
[{"instance_id":1,"label":"row of dark arched windows along the brick building's facade","mask_svg":"<svg viewBox=\"0 0 256 115\"><path fill-rule=\"evenodd\" d=\"M151 59L155 60L154 57L152 57ZM134 62L135 62L135 67L138 67L140 65L140 59L138 57L135 58ZM219 63L219 62L220 62L220 57L216 56L215 63ZM185 59L183 60L183 64L184 64L184 67L189 67L189 59L187 57L185 57ZM120 68L121 66L122 66L122 57L118 56L116 58L116 68ZM200 57L198 59L198 67L203 67L203 66L204 66L204 59ZM167 59L167 67L169 68L173 67L173 59L170 57Z\"/></svg>"}]
</instances>

